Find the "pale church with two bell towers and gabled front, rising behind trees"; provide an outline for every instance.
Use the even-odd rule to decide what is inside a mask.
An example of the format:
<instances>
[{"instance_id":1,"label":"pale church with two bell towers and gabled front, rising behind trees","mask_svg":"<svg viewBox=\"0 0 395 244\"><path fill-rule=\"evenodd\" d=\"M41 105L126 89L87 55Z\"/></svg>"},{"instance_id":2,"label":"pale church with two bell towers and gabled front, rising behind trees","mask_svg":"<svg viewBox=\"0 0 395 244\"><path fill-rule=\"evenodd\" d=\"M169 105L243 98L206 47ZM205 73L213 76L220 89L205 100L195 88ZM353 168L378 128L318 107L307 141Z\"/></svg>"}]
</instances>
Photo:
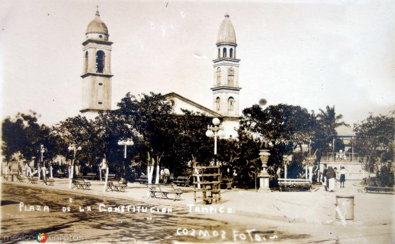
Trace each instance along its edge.
<instances>
[{"instance_id":1,"label":"pale church with two bell towers and gabled front, rising behind trees","mask_svg":"<svg viewBox=\"0 0 395 244\"><path fill-rule=\"evenodd\" d=\"M213 60L213 85L210 88L212 108L206 108L180 94L171 92L163 95L171 104L174 112L182 115L182 109L202 113L208 117L219 118L226 132L226 138L237 137L239 122L238 68L240 59L236 58L236 34L225 15L219 28L216 46L218 55ZM99 11L89 23L86 41L82 43L84 67L82 78L82 116L94 119L99 111L111 110L111 45L108 28L100 19Z\"/></svg>"}]
</instances>

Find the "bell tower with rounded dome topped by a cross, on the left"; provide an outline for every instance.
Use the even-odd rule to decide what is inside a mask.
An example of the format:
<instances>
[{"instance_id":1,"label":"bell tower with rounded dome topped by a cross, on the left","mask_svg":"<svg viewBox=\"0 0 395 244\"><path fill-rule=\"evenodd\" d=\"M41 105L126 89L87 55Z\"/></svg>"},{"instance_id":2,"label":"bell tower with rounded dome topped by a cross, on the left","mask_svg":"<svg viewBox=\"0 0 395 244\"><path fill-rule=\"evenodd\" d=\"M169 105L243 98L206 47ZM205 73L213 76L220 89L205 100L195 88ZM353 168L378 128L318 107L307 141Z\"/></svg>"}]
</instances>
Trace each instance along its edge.
<instances>
[{"instance_id":1,"label":"bell tower with rounded dome topped by a cross, on the left","mask_svg":"<svg viewBox=\"0 0 395 244\"><path fill-rule=\"evenodd\" d=\"M111 110L111 45L108 29L99 11L89 23L83 45L82 109L88 119L99 111Z\"/></svg>"}]
</instances>

